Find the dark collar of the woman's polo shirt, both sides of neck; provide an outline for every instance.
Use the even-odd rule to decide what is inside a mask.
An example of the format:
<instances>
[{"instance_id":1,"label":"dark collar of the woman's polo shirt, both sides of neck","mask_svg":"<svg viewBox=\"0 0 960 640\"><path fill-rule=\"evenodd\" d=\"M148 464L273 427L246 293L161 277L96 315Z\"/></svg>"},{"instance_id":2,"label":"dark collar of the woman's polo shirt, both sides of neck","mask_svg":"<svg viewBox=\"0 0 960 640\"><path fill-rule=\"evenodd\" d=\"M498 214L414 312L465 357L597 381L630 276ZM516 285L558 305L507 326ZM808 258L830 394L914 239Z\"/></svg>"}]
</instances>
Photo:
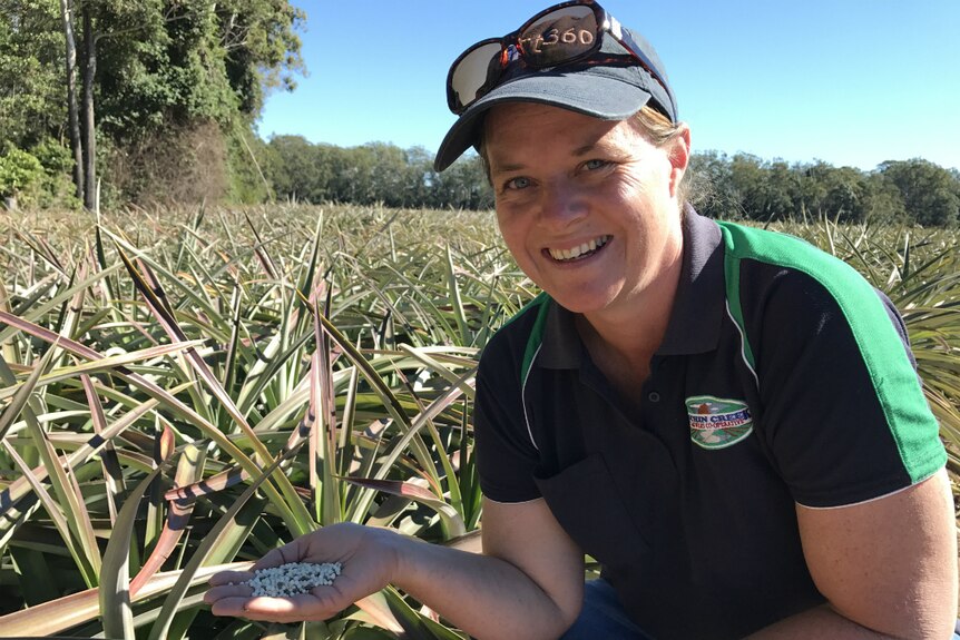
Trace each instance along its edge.
<instances>
[{"instance_id":1,"label":"dark collar of the woman's polo shirt, both sides of neck","mask_svg":"<svg viewBox=\"0 0 960 640\"><path fill-rule=\"evenodd\" d=\"M684 211L684 257L674 307L658 355L690 355L716 348L726 303L722 234L689 205ZM587 357L575 314L548 302L538 358L547 368L579 368Z\"/></svg>"}]
</instances>

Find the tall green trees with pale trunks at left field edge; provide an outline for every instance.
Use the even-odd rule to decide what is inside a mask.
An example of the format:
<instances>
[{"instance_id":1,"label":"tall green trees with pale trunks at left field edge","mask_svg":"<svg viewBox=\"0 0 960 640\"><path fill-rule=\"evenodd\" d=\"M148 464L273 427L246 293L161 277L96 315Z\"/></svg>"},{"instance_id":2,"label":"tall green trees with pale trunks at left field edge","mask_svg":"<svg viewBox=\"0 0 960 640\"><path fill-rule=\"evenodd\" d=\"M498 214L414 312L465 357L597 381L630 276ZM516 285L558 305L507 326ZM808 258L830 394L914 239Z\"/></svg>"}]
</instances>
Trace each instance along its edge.
<instances>
[{"instance_id":1,"label":"tall green trees with pale trunks at left field edge","mask_svg":"<svg viewBox=\"0 0 960 640\"><path fill-rule=\"evenodd\" d=\"M0 0L0 196L266 199L255 122L304 70L305 19L285 0Z\"/></svg>"}]
</instances>

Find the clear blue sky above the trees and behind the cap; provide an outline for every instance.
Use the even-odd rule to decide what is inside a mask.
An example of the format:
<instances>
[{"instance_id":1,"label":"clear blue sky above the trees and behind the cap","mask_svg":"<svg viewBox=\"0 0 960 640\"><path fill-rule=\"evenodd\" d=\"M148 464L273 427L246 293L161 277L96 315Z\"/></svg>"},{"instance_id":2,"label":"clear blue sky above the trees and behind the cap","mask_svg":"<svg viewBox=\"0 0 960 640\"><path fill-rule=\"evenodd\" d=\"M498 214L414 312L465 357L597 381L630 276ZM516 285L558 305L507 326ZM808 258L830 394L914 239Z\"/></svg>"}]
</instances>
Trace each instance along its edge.
<instances>
[{"instance_id":1,"label":"clear blue sky above the trees and behind the cap","mask_svg":"<svg viewBox=\"0 0 960 640\"><path fill-rule=\"evenodd\" d=\"M294 0L307 77L268 97L264 138L435 151L450 62L551 2ZM960 0L606 0L657 48L695 151L873 169L960 168Z\"/></svg>"}]
</instances>

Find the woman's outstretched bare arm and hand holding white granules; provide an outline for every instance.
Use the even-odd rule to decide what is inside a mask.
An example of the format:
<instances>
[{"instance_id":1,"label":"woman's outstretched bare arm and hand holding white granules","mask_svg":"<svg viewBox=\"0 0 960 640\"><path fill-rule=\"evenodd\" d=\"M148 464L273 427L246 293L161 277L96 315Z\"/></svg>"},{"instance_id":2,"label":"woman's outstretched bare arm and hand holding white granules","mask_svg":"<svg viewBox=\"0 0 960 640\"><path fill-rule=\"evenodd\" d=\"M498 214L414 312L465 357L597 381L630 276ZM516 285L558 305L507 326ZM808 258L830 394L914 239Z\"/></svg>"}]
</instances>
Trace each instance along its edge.
<instances>
[{"instance_id":1,"label":"woman's outstretched bare arm and hand holding white granules","mask_svg":"<svg viewBox=\"0 0 960 640\"><path fill-rule=\"evenodd\" d=\"M252 598L248 587L236 584L249 574L225 572L210 580L205 601L217 616L323 620L392 583L479 640L560 636L581 605L584 557L546 502L484 501L482 532L480 555L385 529L325 526L271 551L254 568L337 561L343 569L333 585L293 598Z\"/></svg>"}]
</instances>

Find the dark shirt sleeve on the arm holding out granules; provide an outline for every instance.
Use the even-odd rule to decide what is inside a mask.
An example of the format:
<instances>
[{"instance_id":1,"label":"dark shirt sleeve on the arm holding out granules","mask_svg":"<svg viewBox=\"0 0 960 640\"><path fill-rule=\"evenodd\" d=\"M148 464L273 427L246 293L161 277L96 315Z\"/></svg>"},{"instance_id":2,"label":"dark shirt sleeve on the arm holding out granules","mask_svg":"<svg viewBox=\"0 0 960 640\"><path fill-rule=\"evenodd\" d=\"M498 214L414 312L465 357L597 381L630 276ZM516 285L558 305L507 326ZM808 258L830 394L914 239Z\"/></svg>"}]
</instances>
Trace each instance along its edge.
<instances>
[{"instance_id":1,"label":"dark shirt sleeve on the arm holding out granules","mask_svg":"<svg viewBox=\"0 0 960 640\"><path fill-rule=\"evenodd\" d=\"M519 358L506 338L494 336L477 373L477 470L480 488L490 500L526 502L540 498L533 481L539 456L525 423Z\"/></svg>"}]
</instances>

